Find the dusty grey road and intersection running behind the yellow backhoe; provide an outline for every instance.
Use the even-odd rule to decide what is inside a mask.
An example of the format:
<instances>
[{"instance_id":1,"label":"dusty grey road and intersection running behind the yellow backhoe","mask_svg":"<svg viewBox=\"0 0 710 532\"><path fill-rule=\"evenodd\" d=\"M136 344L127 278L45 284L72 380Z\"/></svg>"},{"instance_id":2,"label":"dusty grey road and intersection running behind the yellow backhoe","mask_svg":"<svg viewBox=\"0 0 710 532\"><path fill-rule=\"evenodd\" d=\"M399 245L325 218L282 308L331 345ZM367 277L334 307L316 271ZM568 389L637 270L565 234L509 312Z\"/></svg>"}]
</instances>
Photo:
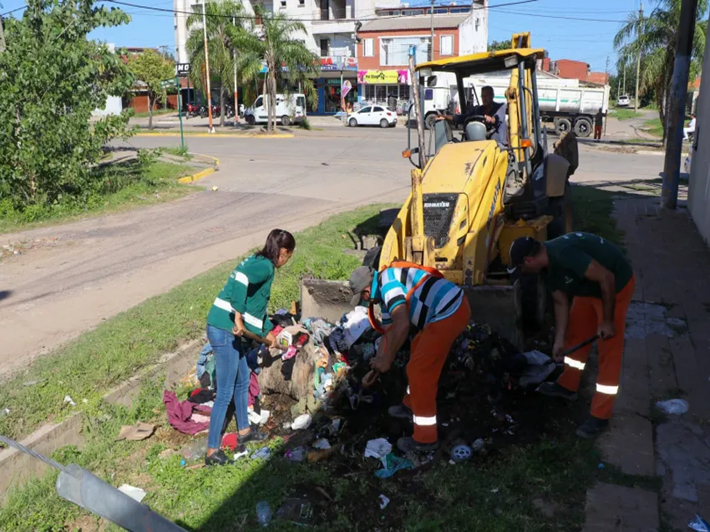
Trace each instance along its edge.
<instances>
[{"instance_id":1,"label":"dusty grey road and intersection running behind the yellow backhoe","mask_svg":"<svg viewBox=\"0 0 710 532\"><path fill-rule=\"evenodd\" d=\"M0 375L246 252L275 226L298 231L358 205L403 201L410 184L410 164L400 155L406 134L405 128L328 128L285 139L190 137L191 151L221 160L219 172L200 182L204 191L3 235L3 243L40 242L0 262ZM179 143L130 140L135 147ZM584 148L574 181L655 179L661 167L656 155Z\"/></svg>"}]
</instances>

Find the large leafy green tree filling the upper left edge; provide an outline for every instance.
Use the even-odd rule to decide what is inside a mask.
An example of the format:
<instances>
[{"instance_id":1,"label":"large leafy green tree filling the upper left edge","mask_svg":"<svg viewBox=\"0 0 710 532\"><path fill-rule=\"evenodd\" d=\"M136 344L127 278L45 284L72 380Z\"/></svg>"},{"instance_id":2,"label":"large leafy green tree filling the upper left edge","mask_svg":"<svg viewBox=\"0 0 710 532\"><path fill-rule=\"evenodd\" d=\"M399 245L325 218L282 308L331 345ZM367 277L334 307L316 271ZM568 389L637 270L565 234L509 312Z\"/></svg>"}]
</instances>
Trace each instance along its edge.
<instances>
[{"instance_id":1,"label":"large leafy green tree filling the upper left edge","mask_svg":"<svg viewBox=\"0 0 710 532\"><path fill-rule=\"evenodd\" d=\"M133 77L113 50L88 40L99 26L131 18L93 0L30 0L5 18L0 52L0 212L82 203L108 140L127 135L129 113L89 119ZM1 214L0 214L1 216Z\"/></svg>"}]
</instances>

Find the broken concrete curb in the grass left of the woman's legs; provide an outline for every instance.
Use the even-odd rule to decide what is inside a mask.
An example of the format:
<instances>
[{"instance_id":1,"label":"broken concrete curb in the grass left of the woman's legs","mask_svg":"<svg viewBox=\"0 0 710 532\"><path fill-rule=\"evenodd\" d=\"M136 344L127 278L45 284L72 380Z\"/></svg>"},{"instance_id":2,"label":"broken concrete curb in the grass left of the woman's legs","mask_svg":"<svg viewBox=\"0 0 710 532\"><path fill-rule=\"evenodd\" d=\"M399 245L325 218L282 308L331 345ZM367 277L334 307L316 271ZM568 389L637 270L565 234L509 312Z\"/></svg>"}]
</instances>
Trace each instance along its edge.
<instances>
[{"instance_id":1,"label":"broken concrete curb in the grass left of the woman's legs","mask_svg":"<svg viewBox=\"0 0 710 532\"><path fill-rule=\"evenodd\" d=\"M190 340L178 347L173 353L165 353L160 360L140 375L131 377L126 382L119 384L103 399L111 404L132 406L133 400L138 397L143 382L165 372L165 389L174 388L180 379L185 377L195 365L197 360L196 348L202 343L201 338ZM82 434L82 412L78 411L70 418L59 423L43 425L20 443L28 449L35 450L45 456L51 455L55 450L65 445L84 445ZM0 502L4 502L9 489L19 487L27 480L44 475L50 467L39 460L35 460L25 453L14 448L0 451Z\"/></svg>"}]
</instances>

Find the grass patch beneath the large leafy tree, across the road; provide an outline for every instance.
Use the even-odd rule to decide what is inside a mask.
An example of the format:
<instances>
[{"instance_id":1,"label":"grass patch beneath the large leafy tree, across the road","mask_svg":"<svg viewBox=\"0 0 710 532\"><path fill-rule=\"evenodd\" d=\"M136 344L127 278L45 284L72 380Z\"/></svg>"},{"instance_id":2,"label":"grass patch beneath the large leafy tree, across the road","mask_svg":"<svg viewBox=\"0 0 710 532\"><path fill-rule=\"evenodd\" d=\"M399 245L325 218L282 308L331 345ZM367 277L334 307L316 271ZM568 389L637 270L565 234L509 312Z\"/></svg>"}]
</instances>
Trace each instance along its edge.
<instances>
[{"instance_id":1,"label":"grass patch beneath the large leafy tree, across the road","mask_svg":"<svg viewBox=\"0 0 710 532\"><path fill-rule=\"evenodd\" d=\"M170 201L194 190L178 183L179 177L193 172L195 169L190 166L155 159L104 164L92 171L94 190L82 201L28 206L22 211L14 209L9 201L0 201L0 233Z\"/></svg>"}]
</instances>

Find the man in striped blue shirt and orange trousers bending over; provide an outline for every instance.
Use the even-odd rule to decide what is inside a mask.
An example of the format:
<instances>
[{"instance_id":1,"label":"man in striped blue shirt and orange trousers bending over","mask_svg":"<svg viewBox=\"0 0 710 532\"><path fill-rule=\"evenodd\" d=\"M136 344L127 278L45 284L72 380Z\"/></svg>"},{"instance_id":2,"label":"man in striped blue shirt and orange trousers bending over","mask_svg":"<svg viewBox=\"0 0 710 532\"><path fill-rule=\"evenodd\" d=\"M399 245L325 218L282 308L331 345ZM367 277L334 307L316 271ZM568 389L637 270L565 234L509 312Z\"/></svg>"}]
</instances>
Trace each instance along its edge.
<instances>
[{"instance_id":1,"label":"man in striped blue shirt and orange trousers bending over","mask_svg":"<svg viewBox=\"0 0 710 532\"><path fill-rule=\"evenodd\" d=\"M381 272L360 267L350 277L350 289L353 306L366 301L371 307L379 304L382 310L383 327L374 321L371 313L373 327L384 336L371 360L373 372L371 377L366 377L366 385L390 369L410 329L417 331L407 365L407 393L402 404L392 406L389 414L414 423L414 436L400 438L397 442L403 453L437 448L439 375L454 340L471 318L464 292L436 270L407 262L394 262Z\"/></svg>"}]
</instances>

